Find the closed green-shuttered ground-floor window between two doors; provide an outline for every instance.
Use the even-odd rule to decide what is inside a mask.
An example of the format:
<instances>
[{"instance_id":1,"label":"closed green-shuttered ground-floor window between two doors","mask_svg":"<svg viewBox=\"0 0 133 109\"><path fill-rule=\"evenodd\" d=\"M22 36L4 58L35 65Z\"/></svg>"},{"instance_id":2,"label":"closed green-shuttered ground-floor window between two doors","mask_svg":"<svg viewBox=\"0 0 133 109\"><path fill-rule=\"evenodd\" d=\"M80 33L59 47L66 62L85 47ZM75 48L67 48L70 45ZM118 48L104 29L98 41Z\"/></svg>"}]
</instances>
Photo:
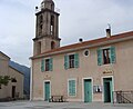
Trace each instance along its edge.
<instances>
[{"instance_id":1,"label":"closed green-shuttered ground-floor window between two doors","mask_svg":"<svg viewBox=\"0 0 133 109\"><path fill-rule=\"evenodd\" d=\"M75 96L75 80L69 80L69 96Z\"/></svg>"}]
</instances>

